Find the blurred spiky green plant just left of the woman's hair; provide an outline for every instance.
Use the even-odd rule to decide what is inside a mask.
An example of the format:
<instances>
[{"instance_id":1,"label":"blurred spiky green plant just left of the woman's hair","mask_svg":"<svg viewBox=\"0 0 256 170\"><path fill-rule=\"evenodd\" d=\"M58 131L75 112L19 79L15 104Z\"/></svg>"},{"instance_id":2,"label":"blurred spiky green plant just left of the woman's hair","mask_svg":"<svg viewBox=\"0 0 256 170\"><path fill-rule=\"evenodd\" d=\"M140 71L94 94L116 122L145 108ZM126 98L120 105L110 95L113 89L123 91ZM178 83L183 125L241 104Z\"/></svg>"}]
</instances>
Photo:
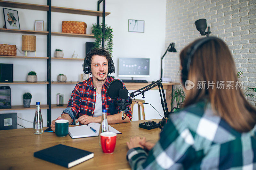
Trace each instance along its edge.
<instances>
[{"instance_id":1,"label":"blurred spiky green plant just left of the woman's hair","mask_svg":"<svg viewBox=\"0 0 256 170\"><path fill-rule=\"evenodd\" d=\"M171 102L174 104L174 107L180 108L185 98L186 93L183 91L182 86L179 86L173 91Z\"/></svg>"}]
</instances>

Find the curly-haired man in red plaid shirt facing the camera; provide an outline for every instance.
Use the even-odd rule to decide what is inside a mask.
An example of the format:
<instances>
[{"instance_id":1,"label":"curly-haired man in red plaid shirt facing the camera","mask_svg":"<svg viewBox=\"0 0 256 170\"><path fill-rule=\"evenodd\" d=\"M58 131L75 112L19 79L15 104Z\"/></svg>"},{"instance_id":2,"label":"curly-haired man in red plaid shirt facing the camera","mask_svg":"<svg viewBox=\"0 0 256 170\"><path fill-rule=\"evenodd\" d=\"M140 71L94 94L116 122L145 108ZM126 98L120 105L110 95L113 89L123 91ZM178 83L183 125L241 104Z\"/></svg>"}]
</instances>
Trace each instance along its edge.
<instances>
[{"instance_id":1,"label":"curly-haired man in red plaid shirt facing the camera","mask_svg":"<svg viewBox=\"0 0 256 170\"><path fill-rule=\"evenodd\" d=\"M75 89L68 101L67 108L62 112L59 119L66 119L69 125L75 124L75 117L79 116L76 123L87 125L91 122L100 123L102 109L107 109L108 123L130 122L132 119L131 107L127 106L126 118L123 120L120 106L116 106L114 99L107 95L107 87L114 78L107 76L109 73L111 55L107 49L92 49L85 57L91 78L76 84ZM84 65L83 65L84 67ZM124 83L123 83L124 85ZM125 88L125 85L124 85ZM79 115L78 112L80 111ZM55 121L51 127L55 132Z\"/></svg>"}]
</instances>

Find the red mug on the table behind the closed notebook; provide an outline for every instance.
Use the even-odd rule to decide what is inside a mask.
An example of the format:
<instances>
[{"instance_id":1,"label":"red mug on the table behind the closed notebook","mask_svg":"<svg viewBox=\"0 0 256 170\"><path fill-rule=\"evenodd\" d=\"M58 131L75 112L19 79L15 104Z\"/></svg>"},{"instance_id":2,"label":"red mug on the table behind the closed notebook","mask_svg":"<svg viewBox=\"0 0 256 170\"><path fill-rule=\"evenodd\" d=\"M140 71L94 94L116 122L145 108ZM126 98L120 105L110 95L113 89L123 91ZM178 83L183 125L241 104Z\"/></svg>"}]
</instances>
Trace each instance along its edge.
<instances>
[{"instance_id":1,"label":"red mug on the table behind the closed notebook","mask_svg":"<svg viewBox=\"0 0 256 170\"><path fill-rule=\"evenodd\" d=\"M111 154L114 152L116 147L116 133L102 132L100 133L100 141L102 151L106 154Z\"/></svg>"}]
</instances>

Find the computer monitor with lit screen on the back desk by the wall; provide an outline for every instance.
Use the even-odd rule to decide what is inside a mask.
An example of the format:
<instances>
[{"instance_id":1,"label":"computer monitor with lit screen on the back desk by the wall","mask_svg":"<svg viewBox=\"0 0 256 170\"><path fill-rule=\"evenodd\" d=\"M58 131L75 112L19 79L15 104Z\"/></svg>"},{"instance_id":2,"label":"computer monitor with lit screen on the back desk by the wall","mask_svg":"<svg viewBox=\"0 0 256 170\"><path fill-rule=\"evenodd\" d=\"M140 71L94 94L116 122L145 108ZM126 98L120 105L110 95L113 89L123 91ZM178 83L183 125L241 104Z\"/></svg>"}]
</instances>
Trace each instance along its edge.
<instances>
[{"instance_id":1,"label":"computer monitor with lit screen on the back desk by the wall","mask_svg":"<svg viewBox=\"0 0 256 170\"><path fill-rule=\"evenodd\" d=\"M119 58L118 77L149 77L149 58Z\"/></svg>"}]
</instances>

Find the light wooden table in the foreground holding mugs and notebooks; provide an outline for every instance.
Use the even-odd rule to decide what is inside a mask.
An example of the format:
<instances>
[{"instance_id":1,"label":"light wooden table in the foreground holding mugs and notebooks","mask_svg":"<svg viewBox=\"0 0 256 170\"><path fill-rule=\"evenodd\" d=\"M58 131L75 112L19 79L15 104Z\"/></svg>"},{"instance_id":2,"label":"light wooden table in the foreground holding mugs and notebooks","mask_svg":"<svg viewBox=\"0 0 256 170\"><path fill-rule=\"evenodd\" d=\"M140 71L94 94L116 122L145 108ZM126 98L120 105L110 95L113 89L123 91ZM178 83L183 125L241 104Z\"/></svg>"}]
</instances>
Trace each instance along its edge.
<instances>
[{"instance_id":1,"label":"light wooden table in the foreground holding mugs and notebooks","mask_svg":"<svg viewBox=\"0 0 256 170\"><path fill-rule=\"evenodd\" d=\"M161 119L155 119L159 122ZM150 120L152 121L152 120ZM64 144L75 148L94 152L94 158L70 169L129 169L126 160L126 142L133 136L146 137L147 141L156 143L159 139L160 129L142 129L139 123L132 121L127 123L111 124L122 134L117 134L116 148L113 154L104 154L98 143L98 137L84 137L72 139L57 137L55 133L43 132L34 135L33 129L13 129L0 131L0 169L67 169L63 166L35 158L34 152L57 145ZM44 127L44 130L46 127ZM67 153L68 154L68 153Z\"/></svg>"}]
</instances>

